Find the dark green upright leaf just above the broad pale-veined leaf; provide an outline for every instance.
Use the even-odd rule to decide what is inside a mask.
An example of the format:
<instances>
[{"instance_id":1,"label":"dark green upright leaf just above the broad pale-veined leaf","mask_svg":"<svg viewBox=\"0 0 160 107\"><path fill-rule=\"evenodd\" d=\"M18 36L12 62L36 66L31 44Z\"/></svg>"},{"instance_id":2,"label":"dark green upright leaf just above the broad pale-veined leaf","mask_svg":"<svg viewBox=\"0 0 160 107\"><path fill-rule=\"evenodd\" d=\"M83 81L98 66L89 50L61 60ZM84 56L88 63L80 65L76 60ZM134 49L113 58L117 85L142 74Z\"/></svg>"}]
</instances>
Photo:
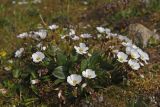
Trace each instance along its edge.
<instances>
[{"instance_id":1,"label":"dark green upright leaf just above the broad pale-veined leaf","mask_svg":"<svg viewBox=\"0 0 160 107\"><path fill-rule=\"evenodd\" d=\"M57 54L57 63L58 65L65 65L67 62L67 57L63 53Z\"/></svg>"}]
</instances>

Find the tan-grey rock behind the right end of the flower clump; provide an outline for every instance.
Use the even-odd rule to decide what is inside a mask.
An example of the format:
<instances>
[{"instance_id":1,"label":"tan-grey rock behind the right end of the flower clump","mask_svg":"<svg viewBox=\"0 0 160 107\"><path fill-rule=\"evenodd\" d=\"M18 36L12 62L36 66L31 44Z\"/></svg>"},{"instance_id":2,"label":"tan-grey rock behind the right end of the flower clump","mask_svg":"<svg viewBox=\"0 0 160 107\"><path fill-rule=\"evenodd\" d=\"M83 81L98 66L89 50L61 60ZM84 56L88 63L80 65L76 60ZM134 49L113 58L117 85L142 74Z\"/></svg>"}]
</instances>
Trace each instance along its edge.
<instances>
[{"instance_id":1,"label":"tan-grey rock behind the right end of the flower clump","mask_svg":"<svg viewBox=\"0 0 160 107\"><path fill-rule=\"evenodd\" d=\"M129 37L141 47L147 47L150 38L160 40L158 34L139 23L130 24Z\"/></svg>"}]
</instances>

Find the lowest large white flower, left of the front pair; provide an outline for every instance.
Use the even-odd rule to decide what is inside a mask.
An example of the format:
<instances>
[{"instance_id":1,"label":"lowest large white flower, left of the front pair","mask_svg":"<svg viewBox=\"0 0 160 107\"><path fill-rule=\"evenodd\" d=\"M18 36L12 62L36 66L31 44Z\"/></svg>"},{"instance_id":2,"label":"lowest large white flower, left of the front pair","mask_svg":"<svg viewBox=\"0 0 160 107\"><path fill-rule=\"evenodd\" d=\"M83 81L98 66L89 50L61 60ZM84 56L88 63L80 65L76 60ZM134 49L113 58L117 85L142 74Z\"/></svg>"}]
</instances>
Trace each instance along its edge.
<instances>
[{"instance_id":1,"label":"lowest large white flower, left of the front pair","mask_svg":"<svg viewBox=\"0 0 160 107\"><path fill-rule=\"evenodd\" d=\"M82 77L77 74L71 74L70 76L67 77L67 82L72 86L76 86L81 81L82 81Z\"/></svg>"}]
</instances>

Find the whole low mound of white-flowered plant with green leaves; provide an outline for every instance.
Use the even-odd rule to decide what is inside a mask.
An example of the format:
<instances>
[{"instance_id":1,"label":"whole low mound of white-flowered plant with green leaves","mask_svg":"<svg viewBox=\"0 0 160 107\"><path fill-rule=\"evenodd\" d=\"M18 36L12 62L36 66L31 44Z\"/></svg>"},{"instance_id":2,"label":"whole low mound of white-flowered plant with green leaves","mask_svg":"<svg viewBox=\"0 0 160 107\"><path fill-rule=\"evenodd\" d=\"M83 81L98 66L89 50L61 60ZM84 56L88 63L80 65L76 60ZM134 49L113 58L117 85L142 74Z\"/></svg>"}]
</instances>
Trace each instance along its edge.
<instances>
[{"instance_id":1,"label":"whole low mound of white-flowered plant with green leaves","mask_svg":"<svg viewBox=\"0 0 160 107\"><path fill-rule=\"evenodd\" d=\"M112 79L119 82L118 76L126 77L129 71L138 72L149 61L149 55L127 36L104 27L95 29L86 32L85 27L85 32L80 32L73 26L60 28L53 24L46 29L41 27L19 34L18 38L26 38L25 52L24 48L17 50L15 57L19 58L11 58L13 63L7 62L3 69L12 71L14 79L29 85L26 89L36 94L45 93L45 88L52 93L54 88L58 90L58 98L63 98L64 93L75 97L81 93L88 95L90 89L105 88ZM21 58L22 53L24 57Z\"/></svg>"}]
</instances>

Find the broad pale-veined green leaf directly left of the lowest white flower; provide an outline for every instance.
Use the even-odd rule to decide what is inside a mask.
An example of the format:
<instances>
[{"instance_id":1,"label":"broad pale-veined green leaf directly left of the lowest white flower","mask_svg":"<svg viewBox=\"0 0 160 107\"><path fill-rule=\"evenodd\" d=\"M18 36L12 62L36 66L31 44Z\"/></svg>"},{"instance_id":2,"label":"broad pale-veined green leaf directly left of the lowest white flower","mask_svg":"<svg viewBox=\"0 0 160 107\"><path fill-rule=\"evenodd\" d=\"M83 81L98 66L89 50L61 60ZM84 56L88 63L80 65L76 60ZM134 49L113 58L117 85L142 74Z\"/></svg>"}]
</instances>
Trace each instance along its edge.
<instances>
[{"instance_id":1,"label":"broad pale-veined green leaf directly left of the lowest white flower","mask_svg":"<svg viewBox=\"0 0 160 107\"><path fill-rule=\"evenodd\" d=\"M52 74L58 79L65 79L65 75L63 72L63 66L59 66L55 68Z\"/></svg>"}]
</instances>

